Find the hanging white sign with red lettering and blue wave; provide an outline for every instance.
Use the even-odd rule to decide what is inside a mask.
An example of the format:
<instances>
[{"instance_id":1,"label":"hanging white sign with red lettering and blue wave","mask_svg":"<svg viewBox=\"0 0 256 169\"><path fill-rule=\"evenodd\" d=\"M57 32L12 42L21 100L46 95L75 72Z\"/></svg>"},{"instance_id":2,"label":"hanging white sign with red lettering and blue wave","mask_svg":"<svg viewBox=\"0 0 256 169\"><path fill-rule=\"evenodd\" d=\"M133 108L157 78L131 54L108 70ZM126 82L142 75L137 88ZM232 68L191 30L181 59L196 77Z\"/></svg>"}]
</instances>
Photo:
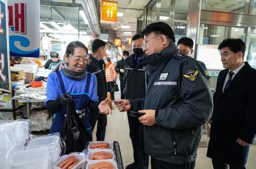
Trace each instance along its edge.
<instances>
[{"instance_id":1,"label":"hanging white sign with red lettering and blue wave","mask_svg":"<svg viewBox=\"0 0 256 169\"><path fill-rule=\"evenodd\" d=\"M8 0L11 57L39 57L39 9L39 0Z\"/></svg>"}]
</instances>

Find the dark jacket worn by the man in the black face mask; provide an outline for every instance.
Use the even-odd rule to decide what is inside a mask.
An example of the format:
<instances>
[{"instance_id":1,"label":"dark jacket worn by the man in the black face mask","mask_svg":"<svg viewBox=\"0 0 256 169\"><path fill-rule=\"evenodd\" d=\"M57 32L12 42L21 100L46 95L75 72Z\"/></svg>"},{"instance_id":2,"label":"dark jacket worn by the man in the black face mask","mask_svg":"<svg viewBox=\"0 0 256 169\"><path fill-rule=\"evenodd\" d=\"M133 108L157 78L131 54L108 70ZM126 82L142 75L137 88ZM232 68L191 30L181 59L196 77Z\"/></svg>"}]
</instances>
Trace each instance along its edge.
<instances>
[{"instance_id":1,"label":"dark jacket worn by the man in the black face mask","mask_svg":"<svg viewBox=\"0 0 256 169\"><path fill-rule=\"evenodd\" d=\"M135 54L125 59L124 62L124 90L123 94L126 99L136 99L145 97L146 92L146 66L148 64L145 58L137 66Z\"/></svg>"}]
</instances>

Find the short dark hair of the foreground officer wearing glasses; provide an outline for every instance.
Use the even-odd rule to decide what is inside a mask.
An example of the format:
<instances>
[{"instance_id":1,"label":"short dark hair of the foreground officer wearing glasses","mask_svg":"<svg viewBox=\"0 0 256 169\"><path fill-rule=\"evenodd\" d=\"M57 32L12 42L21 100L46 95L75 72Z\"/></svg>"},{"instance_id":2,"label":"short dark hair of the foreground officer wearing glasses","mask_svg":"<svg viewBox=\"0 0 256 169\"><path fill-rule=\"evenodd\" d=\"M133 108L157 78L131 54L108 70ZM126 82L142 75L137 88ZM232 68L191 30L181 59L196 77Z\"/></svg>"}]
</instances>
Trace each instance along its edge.
<instances>
[{"instance_id":1,"label":"short dark hair of the foreground officer wearing glasses","mask_svg":"<svg viewBox=\"0 0 256 169\"><path fill-rule=\"evenodd\" d=\"M172 28L164 22L154 22L147 25L143 31L142 35L148 35L154 33L155 35L165 35L170 42L175 42L174 31Z\"/></svg>"}]
</instances>

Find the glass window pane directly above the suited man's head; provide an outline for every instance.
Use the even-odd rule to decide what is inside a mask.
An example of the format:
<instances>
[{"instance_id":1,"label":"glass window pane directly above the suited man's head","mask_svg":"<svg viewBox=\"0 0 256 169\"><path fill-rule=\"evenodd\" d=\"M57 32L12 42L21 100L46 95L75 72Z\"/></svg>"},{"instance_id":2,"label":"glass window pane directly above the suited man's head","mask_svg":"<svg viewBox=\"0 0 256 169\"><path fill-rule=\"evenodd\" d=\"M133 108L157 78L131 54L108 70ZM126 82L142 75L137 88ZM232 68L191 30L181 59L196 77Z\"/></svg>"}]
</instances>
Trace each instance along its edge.
<instances>
[{"instance_id":1,"label":"glass window pane directly above the suited man's head","mask_svg":"<svg viewBox=\"0 0 256 169\"><path fill-rule=\"evenodd\" d=\"M240 38L245 42L243 27L200 24L199 44L219 45L226 38Z\"/></svg>"}]
</instances>

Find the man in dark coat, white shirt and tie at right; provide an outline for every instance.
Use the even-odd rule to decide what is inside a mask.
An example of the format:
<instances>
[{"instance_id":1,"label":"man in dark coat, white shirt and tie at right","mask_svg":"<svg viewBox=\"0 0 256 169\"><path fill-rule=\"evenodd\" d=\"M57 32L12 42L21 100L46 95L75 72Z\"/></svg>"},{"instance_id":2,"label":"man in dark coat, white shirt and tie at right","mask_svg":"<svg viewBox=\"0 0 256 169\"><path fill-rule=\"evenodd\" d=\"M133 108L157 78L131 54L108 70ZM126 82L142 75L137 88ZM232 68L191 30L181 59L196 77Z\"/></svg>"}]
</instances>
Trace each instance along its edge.
<instances>
[{"instance_id":1,"label":"man in dark coat, white shirt and tie at right","mask_svg":"<svg viewBox=\"0 0 256 169\"><path fill-rule=\"evenodd\" d=\"M256 133L256 70L243 62L241 39L225 39L218 49L225 70L214 95L207 157L215 169L245 168Z\"/></svg>"}]
</instances>

